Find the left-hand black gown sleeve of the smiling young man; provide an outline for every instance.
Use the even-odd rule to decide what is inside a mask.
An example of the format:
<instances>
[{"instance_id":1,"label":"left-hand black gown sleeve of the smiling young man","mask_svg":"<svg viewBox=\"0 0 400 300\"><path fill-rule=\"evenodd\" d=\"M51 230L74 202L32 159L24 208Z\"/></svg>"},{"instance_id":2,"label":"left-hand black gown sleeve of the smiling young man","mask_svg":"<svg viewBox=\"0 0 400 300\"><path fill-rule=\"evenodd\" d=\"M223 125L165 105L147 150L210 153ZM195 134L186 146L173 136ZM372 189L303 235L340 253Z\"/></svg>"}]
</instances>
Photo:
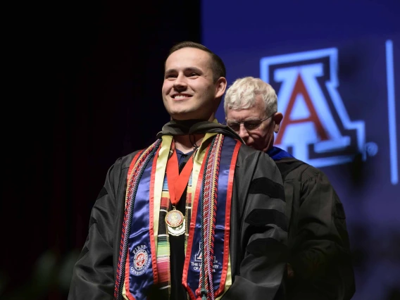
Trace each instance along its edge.
<instances>
[{"instance_id":1,"label":"left-hand black gown sleeve of the smiling young man","mask_svg":"<svg viewBox=\"0 0 400 300\"><path fill-rule=\"evenodd\" d=\"M115 275L115 195L122 178L121 159L106 175L89 221L89 233L73 268L69 300L113 299Z\"/></svg>"}]
</instances>

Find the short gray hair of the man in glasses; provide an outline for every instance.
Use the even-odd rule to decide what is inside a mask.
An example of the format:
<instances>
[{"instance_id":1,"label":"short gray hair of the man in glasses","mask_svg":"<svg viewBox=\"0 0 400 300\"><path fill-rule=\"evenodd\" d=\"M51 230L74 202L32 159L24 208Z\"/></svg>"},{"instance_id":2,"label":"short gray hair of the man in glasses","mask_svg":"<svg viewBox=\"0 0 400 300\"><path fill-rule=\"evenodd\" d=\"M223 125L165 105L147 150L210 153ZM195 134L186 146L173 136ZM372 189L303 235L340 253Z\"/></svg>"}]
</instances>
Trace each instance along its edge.
<instances>
[{"instance_id":1,"label":"short gray hair of the man in glasses","mask_svg":"<svg viewBox=\"0 0 400 300\"><path fill-rule=\"evenodd\" d=\"M227 110L240 110L250 108L256 103L256 95L260 95L265 104L265 113L277 111L277 95L275 89L260 78L238 78L227 89L224 100L225 115Z\"/></svg>"}]
</instances>

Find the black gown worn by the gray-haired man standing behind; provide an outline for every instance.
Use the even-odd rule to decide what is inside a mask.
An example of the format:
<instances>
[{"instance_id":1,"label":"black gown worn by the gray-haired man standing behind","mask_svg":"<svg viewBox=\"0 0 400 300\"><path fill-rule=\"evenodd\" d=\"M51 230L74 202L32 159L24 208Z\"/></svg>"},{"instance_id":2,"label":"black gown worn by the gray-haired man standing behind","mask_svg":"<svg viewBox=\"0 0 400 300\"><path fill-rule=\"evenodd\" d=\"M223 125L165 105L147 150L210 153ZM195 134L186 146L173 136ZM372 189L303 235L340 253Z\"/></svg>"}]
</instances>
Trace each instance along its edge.
<instances>
[{"instance_id":1,"label":"black gown worn by the gray-haired man standing behind","mask_svg":"<svg viewBox=\"0 0 400 300\"><path fill-rule=\"evenodd\" d=\"M287 299L348 300L354 272L344 208L326 175L296 158L275 161L284 178L289 218Z\"/></svg>"}]
</instances>

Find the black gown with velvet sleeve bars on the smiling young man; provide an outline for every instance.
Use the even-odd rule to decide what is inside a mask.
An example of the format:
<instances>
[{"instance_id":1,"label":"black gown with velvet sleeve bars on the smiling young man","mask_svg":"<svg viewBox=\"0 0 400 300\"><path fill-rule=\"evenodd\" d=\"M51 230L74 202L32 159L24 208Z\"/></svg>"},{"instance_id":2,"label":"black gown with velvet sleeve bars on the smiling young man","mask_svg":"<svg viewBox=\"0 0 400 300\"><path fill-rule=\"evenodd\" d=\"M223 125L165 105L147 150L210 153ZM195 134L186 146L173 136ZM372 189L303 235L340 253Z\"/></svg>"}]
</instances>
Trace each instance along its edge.
<instances>
[{"instance_id":1,"label":"black gown with velvet sleeve bars on the smiling young man","mask_svg":"<svg viewBox=\"0 0 400 300\"><path fill-rule=\"evenodd\" d=\"M222 125L217 125L208 123L206 131L220 130ZM68 299L113 299L127 170L135 154L118 158L108 170L73 269ZM232 286L223 299L283 299L287 218L282 177L268 154L244 144L237 157L230 217Z\"/></svg>"}]
</instances>

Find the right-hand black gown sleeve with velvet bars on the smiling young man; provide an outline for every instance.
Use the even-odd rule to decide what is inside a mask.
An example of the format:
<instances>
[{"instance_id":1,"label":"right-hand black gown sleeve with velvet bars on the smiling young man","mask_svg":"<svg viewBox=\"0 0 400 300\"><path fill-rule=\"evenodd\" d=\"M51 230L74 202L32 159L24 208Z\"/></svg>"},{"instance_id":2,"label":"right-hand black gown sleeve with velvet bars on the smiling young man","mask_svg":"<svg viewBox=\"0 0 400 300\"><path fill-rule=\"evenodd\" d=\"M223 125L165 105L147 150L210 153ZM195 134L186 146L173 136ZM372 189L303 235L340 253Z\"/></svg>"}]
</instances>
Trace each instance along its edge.
<instances>
[{"instance_id":1,"label":"right-hand black gown sleeve with velvet bars on the smiling young man","mask_svg":"<svg viewBox=\"0 0 400 300\"><path fill-rule=\"evenodd\" d=\"M242 149L243 148L243 149ZM285 192L275 162L261 151L239 151L232 201L232 286L230 299L284 299L287 263Z\"/></svg>"}]
</instances>

